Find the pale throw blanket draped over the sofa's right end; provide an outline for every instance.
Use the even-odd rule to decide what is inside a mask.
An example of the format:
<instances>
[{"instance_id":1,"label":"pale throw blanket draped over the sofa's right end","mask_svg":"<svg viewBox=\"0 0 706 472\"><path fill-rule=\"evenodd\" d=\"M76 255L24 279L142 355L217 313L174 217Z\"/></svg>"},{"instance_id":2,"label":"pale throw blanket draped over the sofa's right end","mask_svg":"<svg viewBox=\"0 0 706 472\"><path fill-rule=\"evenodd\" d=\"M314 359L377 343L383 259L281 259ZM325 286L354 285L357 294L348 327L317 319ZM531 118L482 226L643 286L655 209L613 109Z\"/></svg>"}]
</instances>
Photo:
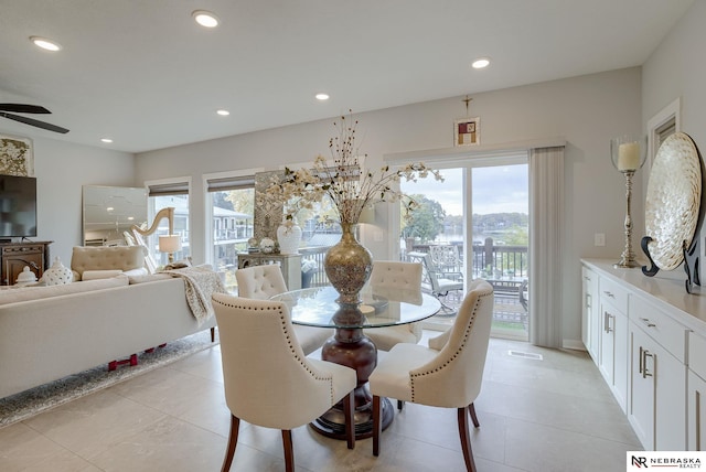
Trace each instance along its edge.
<instances>
[{"instance_id":1,"label":"pale throw blanket draped over the sofa's right end","mask_svg":"<svg viewBox=\"0 0 706 472\"><path fill-rule=\"evenodd\" d=\"M213 315L211 294L228 292L223 286L221 277L208 265L164 270L162 273L184 279L186 302L194 318L199 321L199 325Z\"/></svg>"}]
</instances>

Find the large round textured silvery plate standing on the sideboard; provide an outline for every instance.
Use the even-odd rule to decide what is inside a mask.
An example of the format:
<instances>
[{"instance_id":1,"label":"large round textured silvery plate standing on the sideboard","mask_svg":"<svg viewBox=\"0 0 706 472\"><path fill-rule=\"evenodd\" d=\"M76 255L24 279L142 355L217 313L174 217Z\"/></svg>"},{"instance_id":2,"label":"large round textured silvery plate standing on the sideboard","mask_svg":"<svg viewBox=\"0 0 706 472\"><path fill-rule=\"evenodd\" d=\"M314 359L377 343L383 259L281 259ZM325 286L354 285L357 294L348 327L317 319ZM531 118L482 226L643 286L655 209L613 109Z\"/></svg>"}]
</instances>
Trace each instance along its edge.
<instances>
[{"instance_id":1,"label":"large round textured silvery plate standing on the sideboard","mask_svg":"<svg viewBox=\"0 0 706 472\"><path fill-rule=\"evenodd\" d=\"M674 270L684 260L682 245L692 244L700 201L698 151L688 135L675 132L654 158L644 205L650 256L660 269Z\"/></svg>"}]
</instances>

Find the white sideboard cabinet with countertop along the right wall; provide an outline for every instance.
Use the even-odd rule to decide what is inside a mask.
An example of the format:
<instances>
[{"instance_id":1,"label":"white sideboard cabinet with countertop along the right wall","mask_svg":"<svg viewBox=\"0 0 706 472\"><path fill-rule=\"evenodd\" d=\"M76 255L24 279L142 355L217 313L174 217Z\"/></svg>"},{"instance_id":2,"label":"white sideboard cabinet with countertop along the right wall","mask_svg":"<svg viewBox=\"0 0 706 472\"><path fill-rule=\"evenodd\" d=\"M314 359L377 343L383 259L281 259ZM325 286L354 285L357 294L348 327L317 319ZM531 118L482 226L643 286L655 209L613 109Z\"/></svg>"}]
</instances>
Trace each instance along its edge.
<instances>
[{"instance_id":1,"label":"white sideboard cabinet with countertop along the right wall","mask_svg":"<svg viewBox=\"0 0 706 472\"><path fill-rule=\"evenodd\" d=\"M586 348L642 446L706 448L706 288L687 294L674 275L597 259L582 260L581 277Z\"/></svg>"}]
</instances>

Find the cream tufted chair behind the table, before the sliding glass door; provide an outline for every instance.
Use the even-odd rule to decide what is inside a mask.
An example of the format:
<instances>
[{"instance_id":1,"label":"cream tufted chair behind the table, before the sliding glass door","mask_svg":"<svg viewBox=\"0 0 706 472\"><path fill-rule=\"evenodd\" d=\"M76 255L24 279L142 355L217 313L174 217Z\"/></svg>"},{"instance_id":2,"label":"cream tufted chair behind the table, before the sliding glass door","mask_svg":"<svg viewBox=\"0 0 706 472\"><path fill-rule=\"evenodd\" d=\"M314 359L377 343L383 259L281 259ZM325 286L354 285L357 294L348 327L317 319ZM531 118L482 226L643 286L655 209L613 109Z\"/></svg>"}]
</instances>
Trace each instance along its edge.
<instances>
[{"instance_id":1,"label":"cream tufted chair behind the table, before the sliding glass door","mask_svg":"<svg viewBox=\"0 0 706 472\"><path fill-rule=\"evenodd\" d=\"M421 290L421 264L375 260L368 283L373 294L376 290ZM375 328L364 332L381 351L389 351L397 343L416 344L421 340L419 323Z\"/></svg>"}]
</instances>

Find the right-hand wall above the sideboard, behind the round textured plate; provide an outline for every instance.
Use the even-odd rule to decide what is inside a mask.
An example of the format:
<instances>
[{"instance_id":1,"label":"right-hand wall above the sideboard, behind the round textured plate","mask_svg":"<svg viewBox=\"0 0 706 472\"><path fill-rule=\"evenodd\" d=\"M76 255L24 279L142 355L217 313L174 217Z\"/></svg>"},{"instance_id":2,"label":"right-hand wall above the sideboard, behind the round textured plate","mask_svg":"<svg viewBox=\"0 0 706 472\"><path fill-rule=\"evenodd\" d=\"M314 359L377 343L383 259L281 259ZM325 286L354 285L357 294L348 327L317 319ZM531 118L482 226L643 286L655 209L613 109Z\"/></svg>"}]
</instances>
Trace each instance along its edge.
<instances>
[{"instance_id":1,"label":"right-hand wall above the sideboard, behind the round textured plate","mask_svg":"<svg viewBox=\"0 0 706 472\"><path fill-rule=\"evenodd\" d=\"M682 131L692 137L702 154L706 150L706 62L699 49L706 44L706 2L695 1L643 66L642 120L645 124L662 108L680 98ZM649 174L645 173L645 185ZM702 182L704 179L702 179ZM703 184L703 183L702 183ZM706 211L706 189L702 189L702 215ZM697 229L702 245L702 280L705 279L706 225ZM668 273L657 276L667 277ZM685 279L682 267L674 277ZM706 283L706 281L704 281Z\"/></svg>"}]
</instances>

